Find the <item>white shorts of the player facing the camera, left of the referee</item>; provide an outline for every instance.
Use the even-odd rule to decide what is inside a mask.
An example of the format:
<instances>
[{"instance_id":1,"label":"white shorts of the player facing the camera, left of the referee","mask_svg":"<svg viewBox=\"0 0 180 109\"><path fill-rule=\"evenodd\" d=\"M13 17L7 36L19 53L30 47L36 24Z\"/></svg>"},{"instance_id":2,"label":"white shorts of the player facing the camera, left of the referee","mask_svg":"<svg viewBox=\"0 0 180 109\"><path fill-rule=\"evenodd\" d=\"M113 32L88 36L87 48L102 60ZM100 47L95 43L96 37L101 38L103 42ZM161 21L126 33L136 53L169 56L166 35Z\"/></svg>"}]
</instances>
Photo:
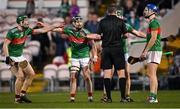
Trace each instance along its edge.
<instances>
[{"instance_id":1,"label":"white shorts of the player facing the camera, left of the referee","mask_svg":"<svg viewBox=\"0 0 180 109\"><path fill-rule=\"evenodd\" d=\"M78 69L80 69L80 67L88 66L89 65L89 61L90 61L89 57L88 58L72 58L71 59L71 66L72 67L76 67L75 69L78 70ZM74 69L74 68L72 68L72 69Z\"/></svg>"}]
</instances>

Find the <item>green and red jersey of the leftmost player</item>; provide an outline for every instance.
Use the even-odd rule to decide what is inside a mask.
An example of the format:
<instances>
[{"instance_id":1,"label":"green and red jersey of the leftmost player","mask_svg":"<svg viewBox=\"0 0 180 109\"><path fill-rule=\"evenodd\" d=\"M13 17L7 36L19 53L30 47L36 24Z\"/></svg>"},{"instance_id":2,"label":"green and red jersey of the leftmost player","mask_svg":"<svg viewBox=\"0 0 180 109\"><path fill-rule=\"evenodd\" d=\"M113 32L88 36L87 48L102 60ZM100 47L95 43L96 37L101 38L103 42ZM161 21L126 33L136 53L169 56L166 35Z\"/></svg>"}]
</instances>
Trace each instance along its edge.
<instances>
[{"instance_id":1,"label":"green and red jersey of the leftmost player","mask_svg":"<svg viewBox=\"0 0 180 109\"><path fill-rule=\"evenodd\" d=\"M17 27L8 31L6 38L11 41L8 45L9 56L19 57L22 55L25 41L32 31L31 28L20 31Z\"/></svg>"}]
</instances>

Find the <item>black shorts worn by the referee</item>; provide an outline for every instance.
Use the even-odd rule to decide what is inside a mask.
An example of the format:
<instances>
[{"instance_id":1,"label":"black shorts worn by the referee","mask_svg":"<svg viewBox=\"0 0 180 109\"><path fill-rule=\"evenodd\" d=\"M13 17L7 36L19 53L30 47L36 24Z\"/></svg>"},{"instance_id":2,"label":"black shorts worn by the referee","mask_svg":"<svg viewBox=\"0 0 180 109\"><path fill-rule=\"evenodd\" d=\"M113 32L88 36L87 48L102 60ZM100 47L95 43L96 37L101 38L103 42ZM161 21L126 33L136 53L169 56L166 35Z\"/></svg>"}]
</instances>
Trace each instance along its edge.
<instances>
[{"instance_id":1,"label":"black shorts worn by the referee","mask_svg":"<svg viewBox=\"0 0 180 109\"><path fill-rule=\"evenodd\" d=\"M103 70L112 69L125 69L125 57L122 49L117 47L106 47L102 50L101 68Z\"/></svg>"}]
</instances>

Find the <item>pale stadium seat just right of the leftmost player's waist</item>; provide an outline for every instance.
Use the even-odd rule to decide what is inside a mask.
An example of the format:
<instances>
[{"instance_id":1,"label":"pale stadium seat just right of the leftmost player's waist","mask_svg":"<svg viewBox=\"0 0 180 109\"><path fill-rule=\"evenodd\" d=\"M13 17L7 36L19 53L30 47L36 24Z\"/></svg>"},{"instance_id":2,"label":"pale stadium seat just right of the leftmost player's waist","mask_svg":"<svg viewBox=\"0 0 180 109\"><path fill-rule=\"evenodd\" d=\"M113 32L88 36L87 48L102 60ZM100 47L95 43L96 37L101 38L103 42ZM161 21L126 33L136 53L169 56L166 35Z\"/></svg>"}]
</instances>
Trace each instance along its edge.
<instances>
[{"instance_id":1,"label":"pale stadium seat just right of the leftmost player's waist","mask_svg":"<svg viewBox=\"0 0 180 109\"><path fill-rule=\"evenodd\" d=\"M31 51L33 56L38 56L39 50L40 50L40 42L39 41L30 41L27 44L27 49Z\"/></svg>"}]
</instances>

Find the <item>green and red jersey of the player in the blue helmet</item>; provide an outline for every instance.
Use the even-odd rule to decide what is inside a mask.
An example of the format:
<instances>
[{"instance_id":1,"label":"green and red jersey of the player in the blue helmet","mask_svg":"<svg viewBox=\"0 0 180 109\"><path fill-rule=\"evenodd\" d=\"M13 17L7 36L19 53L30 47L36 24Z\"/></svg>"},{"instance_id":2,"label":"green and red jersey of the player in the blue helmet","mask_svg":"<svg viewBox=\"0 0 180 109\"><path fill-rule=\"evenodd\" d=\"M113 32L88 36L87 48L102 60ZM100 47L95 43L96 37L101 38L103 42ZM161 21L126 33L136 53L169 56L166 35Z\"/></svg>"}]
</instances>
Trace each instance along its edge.
<instances>
[{"instance_id":1,"label":"green and red jersey of the player in the blue helmet","mask_svg":"<svg viewBox=\"0 0 180 109\"><path fill-rule=\"evenodd\" d=\"M161 47L161 28L160 28L160 23L157 19L151 20L149 23L149 28L147 30L147 43L150 41L152 35L151 31L157 30L157 39L155 41L155 44L150 48L149 51L162 51Z\"/></svg>"}]
</instances>

